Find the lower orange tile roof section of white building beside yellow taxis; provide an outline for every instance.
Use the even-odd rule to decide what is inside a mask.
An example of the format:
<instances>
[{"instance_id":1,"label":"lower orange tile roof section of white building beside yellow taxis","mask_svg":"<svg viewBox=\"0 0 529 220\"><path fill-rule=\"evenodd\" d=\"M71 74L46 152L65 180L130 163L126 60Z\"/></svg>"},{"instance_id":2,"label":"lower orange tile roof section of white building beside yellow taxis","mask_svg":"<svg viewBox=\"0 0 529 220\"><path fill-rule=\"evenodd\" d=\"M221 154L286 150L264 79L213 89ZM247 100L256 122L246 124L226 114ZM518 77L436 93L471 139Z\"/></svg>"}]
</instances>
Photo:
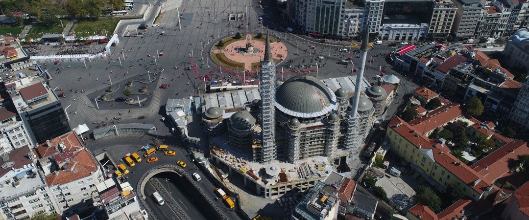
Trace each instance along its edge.
<instances>
[{"instance_id":1,"label":"lower orange tile roof section of white building beside yellow taxis","mask_svg":"<svg viewBox=\"0 0 529 220\"><path fill-rule=\"evenodd\" d=\"M65 169L59 170L57 174L53 173L45 177L48 186L56 184L67 184L71 181L85 178L97 170L96 161L90 156L85 148L76 151L75 158L65 165Z\"/></svg>"}]
</instances>

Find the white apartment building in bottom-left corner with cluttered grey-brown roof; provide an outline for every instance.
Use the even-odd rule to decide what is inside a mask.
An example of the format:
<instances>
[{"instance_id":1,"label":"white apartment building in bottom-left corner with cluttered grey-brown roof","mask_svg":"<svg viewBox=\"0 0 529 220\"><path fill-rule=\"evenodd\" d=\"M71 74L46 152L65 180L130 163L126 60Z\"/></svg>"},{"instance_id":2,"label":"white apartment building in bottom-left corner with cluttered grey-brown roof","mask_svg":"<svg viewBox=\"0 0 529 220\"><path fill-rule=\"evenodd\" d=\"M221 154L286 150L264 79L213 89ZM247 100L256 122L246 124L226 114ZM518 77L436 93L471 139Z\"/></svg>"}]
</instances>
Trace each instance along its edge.
<instances>
[{"instance_id":1,"label":"white apartment building in bottom-left corner with cluttered grey-brown roof","mask_svg":"<svg viewBox=\"0 0 529 220\"><path fill-rule=\"evenodd\" d=\"M30 219L36 213L58 211L58 204L41 171L30 159L27 147L2 156L0 169L0 208L2 219Z\"/></svg>"}]
</instances>

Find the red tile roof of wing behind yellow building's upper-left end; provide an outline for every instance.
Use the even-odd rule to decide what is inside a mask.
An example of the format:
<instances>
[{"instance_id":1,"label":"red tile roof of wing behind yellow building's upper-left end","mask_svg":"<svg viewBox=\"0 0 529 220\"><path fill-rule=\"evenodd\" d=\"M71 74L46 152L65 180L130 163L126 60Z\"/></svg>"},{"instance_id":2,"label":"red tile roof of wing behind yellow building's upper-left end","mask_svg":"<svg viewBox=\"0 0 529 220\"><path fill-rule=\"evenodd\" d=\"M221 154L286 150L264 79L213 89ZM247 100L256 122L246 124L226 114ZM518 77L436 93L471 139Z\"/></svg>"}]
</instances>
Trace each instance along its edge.
<instances>
[{"instance_id":1,"label":"red tile roof of wing behind yellow building's upper-left end","mask_svg":"<svg viewBox=\"0 0 529 220\"><path fill-rule=\"evenodd\" d=\"M421 118L409 123L419 133L428 133L433 129L461 117L462 111L458 103L452 102L439 107Z\"/></svg>"}]
</instances>

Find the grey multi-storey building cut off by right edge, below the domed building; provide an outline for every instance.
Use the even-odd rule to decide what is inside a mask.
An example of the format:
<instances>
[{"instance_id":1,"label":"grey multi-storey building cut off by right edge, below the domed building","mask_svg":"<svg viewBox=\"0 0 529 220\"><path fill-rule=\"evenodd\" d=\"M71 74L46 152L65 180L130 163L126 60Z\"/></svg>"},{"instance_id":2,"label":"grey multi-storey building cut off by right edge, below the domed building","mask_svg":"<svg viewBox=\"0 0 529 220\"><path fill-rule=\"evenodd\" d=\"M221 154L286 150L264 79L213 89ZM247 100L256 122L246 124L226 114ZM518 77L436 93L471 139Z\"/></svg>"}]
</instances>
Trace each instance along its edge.
<instances>
[{"instance_id":1,"label":"grey multi-storey building cut off by right edge, below the domed building","mask_svg":"<svg viewBox=\"0 0 529 220\"><path fill-rule=\"evenodd\" d=\"M509 113L509 121L515 128L529 130L529 76L525 78L518 92L513 109Z\"/></svg>"}]
</instances>

